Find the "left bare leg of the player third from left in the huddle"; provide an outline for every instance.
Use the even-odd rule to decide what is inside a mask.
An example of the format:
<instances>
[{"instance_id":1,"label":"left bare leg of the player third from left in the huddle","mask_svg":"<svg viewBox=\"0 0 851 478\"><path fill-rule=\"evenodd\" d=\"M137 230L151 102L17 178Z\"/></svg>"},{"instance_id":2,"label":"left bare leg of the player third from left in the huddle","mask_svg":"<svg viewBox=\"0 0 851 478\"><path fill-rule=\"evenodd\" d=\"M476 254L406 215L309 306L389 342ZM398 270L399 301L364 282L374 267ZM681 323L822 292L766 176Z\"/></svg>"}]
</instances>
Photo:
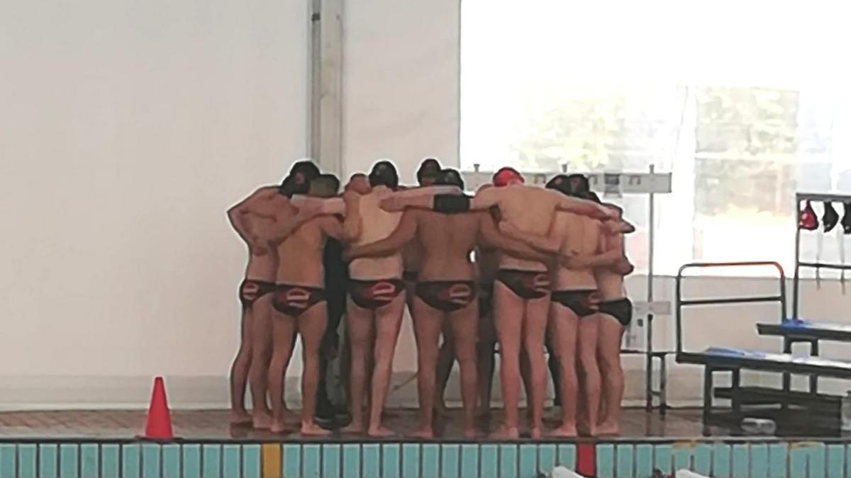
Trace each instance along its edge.
<instances>
[{"instance_id":1,"label":"left bare leg of the player third from left in the huddle","mask_svg":"<svg viewBox=\"0 0 851 478\"><path fill-rule=\"evenodd\" d=\"M344 433L363 433L363 398L366 390L367 356L372 354L372 310L362 309L351 298L346 308L346 327L349 331L351 349L351 373L349 395L351 404L351 423L342 431Z\"/></svg>"}]
</instances>

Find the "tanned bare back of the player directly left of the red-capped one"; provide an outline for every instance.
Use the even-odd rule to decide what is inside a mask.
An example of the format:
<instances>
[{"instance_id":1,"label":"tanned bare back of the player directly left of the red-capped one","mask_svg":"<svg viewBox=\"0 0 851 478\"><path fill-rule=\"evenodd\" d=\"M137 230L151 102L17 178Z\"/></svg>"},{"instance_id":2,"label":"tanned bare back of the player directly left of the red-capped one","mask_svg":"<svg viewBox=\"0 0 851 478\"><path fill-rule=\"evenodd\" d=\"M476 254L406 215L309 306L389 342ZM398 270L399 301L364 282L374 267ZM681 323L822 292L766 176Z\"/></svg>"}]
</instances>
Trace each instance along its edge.
<instances>
[{"instance_id":1,"label":"tanned bare back of the player directly left of the red-capped one","mask_svg":"<svg viewBox=\"0 0 851 478\"><path fill-rule=\"evenodd\" d=\"M417 236L423 256L420 280L472 280L470 253L476 246L483 213L416 212Z\"/></svg>"}]
</instances>

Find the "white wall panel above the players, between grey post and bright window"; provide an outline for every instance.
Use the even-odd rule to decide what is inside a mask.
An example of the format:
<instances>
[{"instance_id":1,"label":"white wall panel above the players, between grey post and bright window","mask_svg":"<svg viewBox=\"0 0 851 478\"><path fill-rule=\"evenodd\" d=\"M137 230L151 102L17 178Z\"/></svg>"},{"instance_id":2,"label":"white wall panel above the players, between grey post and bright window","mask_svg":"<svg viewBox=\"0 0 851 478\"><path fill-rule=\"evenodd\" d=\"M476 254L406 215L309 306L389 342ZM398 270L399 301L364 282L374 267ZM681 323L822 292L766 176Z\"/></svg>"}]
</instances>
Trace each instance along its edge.
<instances>
[{"instance_id":1,"label":"white wall panel above the players, between grey post and bright window","mask_svg":"<svg viewBox=\"0 0 851 478\"><path fill-rule=\"evenodd\" d=\"M410 183L426 156L458 165L459 0L346 0L343 10L346 173L389 157Z\"/></svg>"}]
</instances>

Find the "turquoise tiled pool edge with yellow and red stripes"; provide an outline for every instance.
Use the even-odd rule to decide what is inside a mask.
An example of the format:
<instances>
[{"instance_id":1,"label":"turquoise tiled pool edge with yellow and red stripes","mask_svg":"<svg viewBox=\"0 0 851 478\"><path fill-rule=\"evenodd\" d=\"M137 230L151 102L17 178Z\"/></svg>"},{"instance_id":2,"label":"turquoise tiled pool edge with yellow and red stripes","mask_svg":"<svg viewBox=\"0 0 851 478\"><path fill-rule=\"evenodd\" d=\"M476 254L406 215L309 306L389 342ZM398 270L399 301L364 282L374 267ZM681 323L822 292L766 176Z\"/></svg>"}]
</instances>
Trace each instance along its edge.
<instances>
[{"instance_id":1,"label":"turquoise tiled pool edge with yellow and red stripes","mask_svg":"<svg viewBox=\"0 0 851 478\"><path fill-rule=\"evenodd\" d=\"M851 477L851 441L0 441L0 477L598 478L693 469L717 478Z\"/></svg>"}]
</instances>

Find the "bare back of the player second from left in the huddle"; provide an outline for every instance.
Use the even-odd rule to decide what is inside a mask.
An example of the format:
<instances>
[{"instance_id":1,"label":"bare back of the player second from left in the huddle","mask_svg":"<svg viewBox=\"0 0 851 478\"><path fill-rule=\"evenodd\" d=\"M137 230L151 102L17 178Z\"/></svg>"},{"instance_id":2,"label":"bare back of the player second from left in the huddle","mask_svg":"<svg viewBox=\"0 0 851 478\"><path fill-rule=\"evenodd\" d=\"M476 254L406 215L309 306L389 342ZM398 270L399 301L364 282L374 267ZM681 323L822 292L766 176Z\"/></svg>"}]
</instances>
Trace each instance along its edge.
<instances>
[{"instance_id":1,"label":"bare back of the player second from left in the huddle","mask_svg":"<svg viewBox=\"0 0 851 478\"><path fill-rule=\"evenodd\" d=\"M278 283L322 287L324 285L323 250L328 238L323 223L337 221L320 216L307 221L277 246L281 265L277 269Z\"/></svg>"}]
</instances>

